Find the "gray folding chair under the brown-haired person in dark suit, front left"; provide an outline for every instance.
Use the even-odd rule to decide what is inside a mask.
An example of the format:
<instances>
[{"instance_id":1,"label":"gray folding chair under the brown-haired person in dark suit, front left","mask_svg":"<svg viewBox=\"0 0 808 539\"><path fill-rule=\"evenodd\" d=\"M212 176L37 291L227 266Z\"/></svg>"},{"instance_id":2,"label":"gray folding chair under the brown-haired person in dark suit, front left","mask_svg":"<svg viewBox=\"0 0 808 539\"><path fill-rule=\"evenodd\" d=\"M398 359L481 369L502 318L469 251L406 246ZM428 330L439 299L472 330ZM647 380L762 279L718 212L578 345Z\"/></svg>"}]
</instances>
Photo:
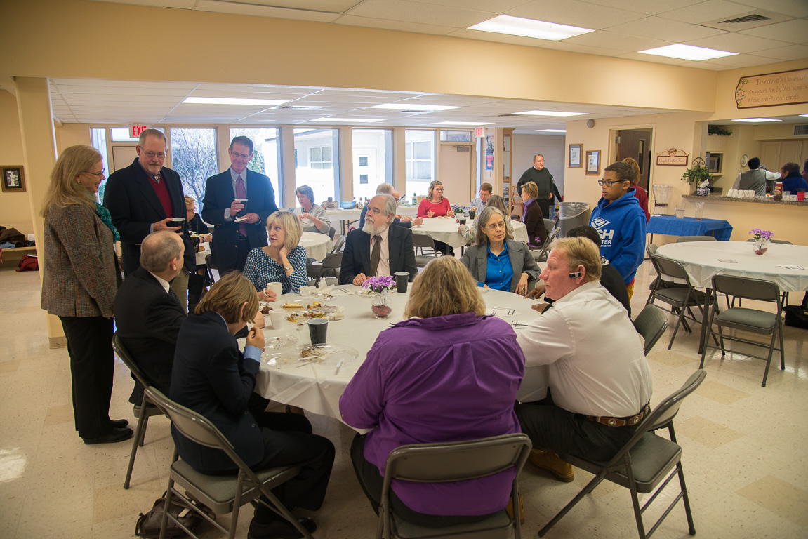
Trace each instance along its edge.
<instances>
[{"instance_id":1,"label":"gray folding chair under the brown-haired person in dark suit, front left","mask_svg":"<svg viewBox=\"0 0 808 539\"><path fill-rule=\"evenodd\" d=\"M213 524L221 533L226 533L229 539L233 539L238 525L239 508L245 503L263 503L279 516L288 520L303 537L313 539L311 534L303 528L297 519L292 516L292 513L271 492L276 486L299 474L300 468L281 466L254 472L242 461L241 457L238 457L233 444L230 444L229 440L208 419L185 406L180 406L154 387L150 387L146 390L146 393L162 411L166 412L166 415L171 419L171 423L183 436L205 447L221 449L238 467L238 474L233 475L202 474L191 468L187 462L180 461L175 448L169 469L166 507L170 507L171 498L174 496L179 496L188 502L189 500L182 493L182 491L187 491L195 499L210 507L217 515L232 513L232 516L230 516L230 528L225 529L216 520L213 520L213 518L197 508L195 504L189 503L189 507L193 507L204 520ZM175 488L175 484L179 485L180 488ZM265 499L259 498L261 495L266 497L269 502L267 503ZM168 511L163 512L162 515L161 538L165 537L168 519L178 524L191 537L199 539L194 533L179 524L179 521Z\"/></svg>"}]
</instances>

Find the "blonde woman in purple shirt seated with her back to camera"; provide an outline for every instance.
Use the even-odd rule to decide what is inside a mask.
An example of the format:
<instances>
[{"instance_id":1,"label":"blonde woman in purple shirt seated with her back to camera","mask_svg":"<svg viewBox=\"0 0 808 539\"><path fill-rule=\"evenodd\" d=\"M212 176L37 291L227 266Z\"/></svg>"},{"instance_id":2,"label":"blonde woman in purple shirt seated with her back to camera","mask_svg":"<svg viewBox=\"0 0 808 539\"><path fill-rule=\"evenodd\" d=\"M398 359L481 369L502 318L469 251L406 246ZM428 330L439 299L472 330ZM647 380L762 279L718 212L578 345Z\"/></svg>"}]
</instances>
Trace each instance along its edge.
<instances>
[{"instance_id":1,"label":"blonde woman in purple shirt seated with her back to camera","mask_svg":"<svg viewBox=\"0 0 808 539\"><path fill-rule=\"evenodd\" d=\"M372 429L356 436L351 460L377 513L394 448L520 432L513 403L524 356L510 324L485 310L460 261L431 261L412 284L405 320L379 334L339 399L345 423ZM483 520L506 506L513 477L506 470L464 482L393 481L390 503L423 526Z\"/></svg>"}]
</instances>

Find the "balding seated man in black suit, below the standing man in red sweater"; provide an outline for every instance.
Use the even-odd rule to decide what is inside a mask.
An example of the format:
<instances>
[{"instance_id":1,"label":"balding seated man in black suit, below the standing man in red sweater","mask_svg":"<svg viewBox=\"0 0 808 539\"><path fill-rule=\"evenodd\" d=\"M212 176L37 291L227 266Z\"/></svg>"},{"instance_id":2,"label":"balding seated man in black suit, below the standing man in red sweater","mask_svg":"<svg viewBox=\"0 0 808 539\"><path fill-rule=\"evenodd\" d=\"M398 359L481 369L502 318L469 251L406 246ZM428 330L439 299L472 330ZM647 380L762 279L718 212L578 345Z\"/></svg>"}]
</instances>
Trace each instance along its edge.
<instances>
[{"instance_id":1,"label":"balding seated man in black suit, below the standing man in red sweater","mask_svg":"<svg viewBox=\"0 0 808 539\"><path fill-rule=\"evenodd\" d=\"M184 246L168 230L149 234L141 244L141 265L118 288L113 310L118 335L149 381L167 394L179 326L185 310L169 281L182 270ZM134 378L134 376L133 376ZM129 402L140 406L143 385L137 379Z\"/></svg>"}]
</instances>

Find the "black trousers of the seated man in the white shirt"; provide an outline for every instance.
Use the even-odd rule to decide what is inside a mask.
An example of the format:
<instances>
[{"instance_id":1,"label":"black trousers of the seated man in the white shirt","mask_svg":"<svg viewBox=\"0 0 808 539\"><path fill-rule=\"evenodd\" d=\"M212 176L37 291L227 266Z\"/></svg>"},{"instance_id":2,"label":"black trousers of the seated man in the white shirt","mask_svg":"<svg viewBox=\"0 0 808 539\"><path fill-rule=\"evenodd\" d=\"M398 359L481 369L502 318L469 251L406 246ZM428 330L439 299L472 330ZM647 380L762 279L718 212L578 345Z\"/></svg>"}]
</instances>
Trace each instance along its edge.
<instances>
[{"instance_id":1,"label":"black trousers of the seated man in the white shirt","mask_svg":"<svg viewBox=\"0 0 808 539\"><path fill-rule=\"evenodd\" d=\"M552 398L517 402L515 409L522 432L530 436L534 449L549 449L595 461L608 461L614 457L636 430L636 427L608 427L595 423L584 415L555 406Z\"/></svg>"}]
</instances>

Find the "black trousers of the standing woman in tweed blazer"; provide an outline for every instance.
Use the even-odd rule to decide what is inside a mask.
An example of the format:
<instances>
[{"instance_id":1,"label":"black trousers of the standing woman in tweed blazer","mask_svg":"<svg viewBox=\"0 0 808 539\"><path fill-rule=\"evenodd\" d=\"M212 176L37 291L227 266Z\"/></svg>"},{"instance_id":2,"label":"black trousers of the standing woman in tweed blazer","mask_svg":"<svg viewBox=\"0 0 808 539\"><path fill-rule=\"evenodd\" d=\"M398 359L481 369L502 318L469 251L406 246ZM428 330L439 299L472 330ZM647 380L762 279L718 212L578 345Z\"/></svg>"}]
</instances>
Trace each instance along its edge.
<instances>
[{"instance_id":1,"label":"black trousers of the standing woman in tweed blazer","mask_svg":"<svg viewBox=\"0 0 808 539\"><path fill-rule=\"evenodd\" d=\"M98 438L112 432L109 419L115 372L112 318L61 316L59 319L70 356L76 430L82 438Z\"/></svg>"}]
</instances>

